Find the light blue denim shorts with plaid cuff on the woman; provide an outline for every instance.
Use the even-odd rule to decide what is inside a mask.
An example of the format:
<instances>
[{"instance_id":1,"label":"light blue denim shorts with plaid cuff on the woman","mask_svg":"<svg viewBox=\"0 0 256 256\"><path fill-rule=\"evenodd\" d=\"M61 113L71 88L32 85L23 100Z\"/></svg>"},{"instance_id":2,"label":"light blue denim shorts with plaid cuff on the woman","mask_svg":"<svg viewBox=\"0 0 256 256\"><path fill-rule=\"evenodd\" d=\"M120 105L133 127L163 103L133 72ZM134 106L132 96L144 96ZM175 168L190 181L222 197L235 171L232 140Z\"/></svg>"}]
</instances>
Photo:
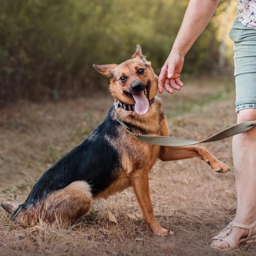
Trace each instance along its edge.
<instances>
[{"instance_id":1,"label":"light blue denim shorts with plaid cuff on the woman","mask_svg":"<svg viewBox=\"0 0 256 256\"><path fill-rule=\"evenodd\" d=\"M256 108L256 29L236 18L229 37L234 41L236 112Z\"/></svg>"}]
</instances>

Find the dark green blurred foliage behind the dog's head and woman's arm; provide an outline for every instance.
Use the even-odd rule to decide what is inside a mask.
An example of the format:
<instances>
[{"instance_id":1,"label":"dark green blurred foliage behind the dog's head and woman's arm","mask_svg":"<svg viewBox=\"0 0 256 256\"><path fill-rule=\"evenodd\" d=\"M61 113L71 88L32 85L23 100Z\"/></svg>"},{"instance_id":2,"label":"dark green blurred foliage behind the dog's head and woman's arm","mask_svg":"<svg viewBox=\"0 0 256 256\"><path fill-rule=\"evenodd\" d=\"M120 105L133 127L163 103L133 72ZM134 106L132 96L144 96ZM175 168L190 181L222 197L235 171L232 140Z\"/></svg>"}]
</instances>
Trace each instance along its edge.
<instances>
[{"instance_id":1,"label":"dark green blurred foliage behind the dog's head and woman's arm","mask_svg":"<svg viewBox=\"0 0 256 256\"><path fill-rule=\"evenodd\" d=\"M0 104L18 98L81 95L106 80L92 64L120 63L140 44L158 74L188 0L0 0ZM218 61L208 25L186 56L184 73Z\"/></svg>"}]
</instances>

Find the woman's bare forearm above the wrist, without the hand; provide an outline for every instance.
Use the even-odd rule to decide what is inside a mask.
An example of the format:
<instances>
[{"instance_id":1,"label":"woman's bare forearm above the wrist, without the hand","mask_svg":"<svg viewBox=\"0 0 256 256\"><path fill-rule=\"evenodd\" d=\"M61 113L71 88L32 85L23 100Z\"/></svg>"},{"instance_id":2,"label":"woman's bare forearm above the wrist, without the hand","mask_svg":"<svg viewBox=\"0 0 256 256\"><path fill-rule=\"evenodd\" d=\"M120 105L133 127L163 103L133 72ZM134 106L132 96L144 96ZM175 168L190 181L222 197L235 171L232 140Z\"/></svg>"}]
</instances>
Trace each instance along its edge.
<instances>
[{"instance_id":1,"label":"woman's bare forearm above the wrist, without the hand","mask_svg":"<svg viewBox=\"0 0 256 256\"><path fill-rule=\"evenodd\" d=\"M190 0L172 50L183 56L212 18L219 0Z\"/></svg>"}]
</instances>

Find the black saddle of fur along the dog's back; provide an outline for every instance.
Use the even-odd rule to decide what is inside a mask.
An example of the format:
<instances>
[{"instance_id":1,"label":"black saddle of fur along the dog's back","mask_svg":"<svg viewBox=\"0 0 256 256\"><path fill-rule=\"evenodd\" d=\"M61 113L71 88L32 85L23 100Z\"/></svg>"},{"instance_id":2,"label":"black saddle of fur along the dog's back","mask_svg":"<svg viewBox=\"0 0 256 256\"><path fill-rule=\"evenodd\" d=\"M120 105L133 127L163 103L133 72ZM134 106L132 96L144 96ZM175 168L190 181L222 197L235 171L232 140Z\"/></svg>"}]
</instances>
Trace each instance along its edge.
<instances>
[{"instance_id":1,"label":"black saddle of fur along the dog's back","mask_svg":"<svg viewBox=\"0 0 256 256\"><path fill-rule=\"evenodd\" d=\"M92 196L103 191L118 176L120 156L107 140L117 137L120 124L111 117L110 109L105 121L98 126L80 145L50 167L34 185L25 203L12 214L15 217L21 209L36 206L50 193L68 186L74 181L86 181Z\"/></svg>"}]
</instances>

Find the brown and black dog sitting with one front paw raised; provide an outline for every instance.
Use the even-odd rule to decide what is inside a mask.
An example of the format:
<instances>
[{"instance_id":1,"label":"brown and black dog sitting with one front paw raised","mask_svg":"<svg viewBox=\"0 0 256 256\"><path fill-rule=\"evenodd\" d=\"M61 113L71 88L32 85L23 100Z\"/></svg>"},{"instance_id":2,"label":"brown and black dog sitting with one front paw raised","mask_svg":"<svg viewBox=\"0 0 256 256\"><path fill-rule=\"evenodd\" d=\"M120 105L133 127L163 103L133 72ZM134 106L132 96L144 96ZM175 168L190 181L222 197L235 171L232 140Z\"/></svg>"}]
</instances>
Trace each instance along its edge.
<instances>
[{"instance_id":1,"label":"brown and black dog sitting with one front paw raised","mask_svg":"<svg viewBox=\"0 0 256 256\"><path fill-rule=\"evenodd\" d=\"M133 133L169 136L161 99L156 97L158 77L137 46L132 58L119 64L94 65L110 77L115 98L105 121L89 137L47 170L25 203L2 207L21 224L39 220L63 226L83 217L93 198L107 198L132 186L143 219L157 235L172 234L156 222L148 174L158 159L172 161L199 157L217 172L229 167L199 146L167 147L146 144L126 132L116 115Z\"/></svg>"}]
</instances>

